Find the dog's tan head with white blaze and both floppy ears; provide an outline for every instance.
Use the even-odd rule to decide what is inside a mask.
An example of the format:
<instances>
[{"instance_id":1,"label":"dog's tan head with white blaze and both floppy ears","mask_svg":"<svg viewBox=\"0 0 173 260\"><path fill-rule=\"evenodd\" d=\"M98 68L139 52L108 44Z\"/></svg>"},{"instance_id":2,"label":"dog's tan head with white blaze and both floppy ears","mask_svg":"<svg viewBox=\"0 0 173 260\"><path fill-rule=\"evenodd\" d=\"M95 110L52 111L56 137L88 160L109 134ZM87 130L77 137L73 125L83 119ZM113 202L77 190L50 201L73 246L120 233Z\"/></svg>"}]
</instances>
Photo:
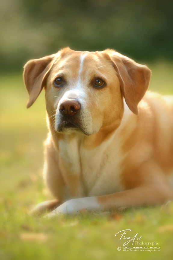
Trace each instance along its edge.
<instances>
[{"instance_id":1,"label":"dog's tan head with white blaze and both floppy ears","mask_svg":"<svg viewBox=\"0 0 173 260\"><path fill-rule=\"evenodd\" d=\"M24 66L29 108L46 90L49 120L59 133L97 133L117 126L123 115L123 97L138 114L137 104L150 81L150 69L115 52L81 52L65 48Z\"/></svg>"}]
</instances>

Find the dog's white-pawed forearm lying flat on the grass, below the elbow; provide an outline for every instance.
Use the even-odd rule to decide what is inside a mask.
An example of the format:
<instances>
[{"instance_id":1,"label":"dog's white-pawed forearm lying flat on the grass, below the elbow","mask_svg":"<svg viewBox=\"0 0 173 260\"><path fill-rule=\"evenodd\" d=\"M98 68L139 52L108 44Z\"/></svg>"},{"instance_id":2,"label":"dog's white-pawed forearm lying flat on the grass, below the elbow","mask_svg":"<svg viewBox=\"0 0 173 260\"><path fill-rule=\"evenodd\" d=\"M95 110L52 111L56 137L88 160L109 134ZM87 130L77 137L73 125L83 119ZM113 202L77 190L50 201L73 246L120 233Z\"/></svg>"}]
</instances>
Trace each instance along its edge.
<instances>
[{"instance_id":1,"label":"dog's white-pawed forearm lying flat on the grass, below the elbow","mask_svg":"<svg viewBox=\"0 0 173 260\"><path fill-rule=\"evenodd\" d=\"M169 188L169 187L168 187ZM97 197L85 197L66 201L54 211L49 213L48 217L62 214L80 213L85 208L88 211L107 210L119 207L142 206L144 204L154 205L159 202L173 199L173 193L161 192L158 189L141 186L127 191L121 191L114 194L102 195Z\"/></svg>"}]
</instances>

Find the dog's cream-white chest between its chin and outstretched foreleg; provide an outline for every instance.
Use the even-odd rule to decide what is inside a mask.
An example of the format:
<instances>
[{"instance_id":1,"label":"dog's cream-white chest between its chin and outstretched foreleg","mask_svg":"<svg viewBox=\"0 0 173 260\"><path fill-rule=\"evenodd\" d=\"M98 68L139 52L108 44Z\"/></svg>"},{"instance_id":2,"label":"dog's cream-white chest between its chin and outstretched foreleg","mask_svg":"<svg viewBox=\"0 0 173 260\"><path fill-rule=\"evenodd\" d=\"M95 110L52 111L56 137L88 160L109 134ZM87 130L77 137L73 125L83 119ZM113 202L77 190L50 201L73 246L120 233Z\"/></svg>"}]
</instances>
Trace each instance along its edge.
<instances>
[{"instance_id":1,"label":"dog's cream-white chest between its chin and outstretched foreleg","mask_svg":"<svg viewBox=\"0 0 173 260\"><path fill-rule=\"evenodd\" d=\"M68 144L62 140L59 142L66 172L79 178L77 196L98 196L123 190L120 145L113 137L92 150L79 145L77 139Z\"/></svg>"}]
</instances>

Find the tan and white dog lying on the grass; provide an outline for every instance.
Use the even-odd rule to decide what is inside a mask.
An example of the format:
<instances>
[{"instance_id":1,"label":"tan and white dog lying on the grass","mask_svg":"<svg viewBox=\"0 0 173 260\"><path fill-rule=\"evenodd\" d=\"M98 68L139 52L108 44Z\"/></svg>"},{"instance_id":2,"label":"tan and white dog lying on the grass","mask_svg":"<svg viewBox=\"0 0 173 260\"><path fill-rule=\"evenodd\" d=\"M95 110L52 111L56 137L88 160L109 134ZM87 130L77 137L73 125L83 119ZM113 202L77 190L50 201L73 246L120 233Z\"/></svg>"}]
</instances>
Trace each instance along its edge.
<instances>
[{"instance_id":1,"label":"tan and white dog lying on the grass","mask_svg":"<svg viewBox=\"0 0 173 260\"><path fill-rule=\"evenodd\" d=\"M150 74L110 49L64 48L25 64L27 108L45 88L44 179L55 197L34 212L52 217L173 199L173 99L147 91Z\"/></svg>"}]
</instances>

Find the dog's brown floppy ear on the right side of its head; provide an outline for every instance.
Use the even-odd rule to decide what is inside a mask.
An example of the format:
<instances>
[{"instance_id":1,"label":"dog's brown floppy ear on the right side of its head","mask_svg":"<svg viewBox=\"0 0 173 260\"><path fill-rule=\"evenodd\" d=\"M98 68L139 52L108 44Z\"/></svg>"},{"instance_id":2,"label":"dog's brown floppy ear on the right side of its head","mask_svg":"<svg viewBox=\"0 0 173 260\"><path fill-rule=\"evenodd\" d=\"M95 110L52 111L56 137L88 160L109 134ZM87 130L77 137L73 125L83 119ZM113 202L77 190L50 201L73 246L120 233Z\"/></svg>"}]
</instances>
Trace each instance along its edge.
<instances>
[{"instance_id":1,"label":"dog's brown floppy ear on the right side of its head","mask_svg":"<svg viewBox=\"0 0 173 260\"><path fill-rule=\"evenodd\" d=\"M116 70L125 102L130 110L138 115L137 105L147 91L151 71L147 66L117 52L112 52L110 59Z\"/></svg>"}]
</instances>

